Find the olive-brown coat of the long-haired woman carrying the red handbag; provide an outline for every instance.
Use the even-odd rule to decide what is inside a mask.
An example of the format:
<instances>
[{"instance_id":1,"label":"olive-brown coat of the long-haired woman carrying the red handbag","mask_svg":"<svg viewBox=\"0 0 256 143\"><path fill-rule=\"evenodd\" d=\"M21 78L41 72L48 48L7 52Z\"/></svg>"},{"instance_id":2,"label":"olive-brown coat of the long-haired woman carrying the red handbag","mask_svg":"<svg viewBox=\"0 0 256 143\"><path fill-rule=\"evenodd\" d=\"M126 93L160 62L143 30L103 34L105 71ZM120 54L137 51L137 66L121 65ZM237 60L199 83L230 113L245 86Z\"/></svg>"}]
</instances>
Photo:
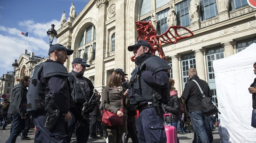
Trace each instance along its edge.
<instances>
[{"instance_id":1,"label":"olive-brown coat of the long-haired woman carrying the red handbag","mask_svg":"<svg viewBox=\"0 0 256 143\"><path fill-rule=\"evenodd\" d=\"M119 92L118 90L114 89L113 87L105 86L102 91L102 105L104 109L115 113L121 109L122 105L122 97L123 96L123 109L124 109L124 121L123 126L117 126L117 127L105 127L105 130L108 132L116 132L116 129L118 128L118 133L124 133L127 131L127 108L130 106L130 99L126 98L126 96L123 95L123 91Z\"/></svg>"}]
</instances>

